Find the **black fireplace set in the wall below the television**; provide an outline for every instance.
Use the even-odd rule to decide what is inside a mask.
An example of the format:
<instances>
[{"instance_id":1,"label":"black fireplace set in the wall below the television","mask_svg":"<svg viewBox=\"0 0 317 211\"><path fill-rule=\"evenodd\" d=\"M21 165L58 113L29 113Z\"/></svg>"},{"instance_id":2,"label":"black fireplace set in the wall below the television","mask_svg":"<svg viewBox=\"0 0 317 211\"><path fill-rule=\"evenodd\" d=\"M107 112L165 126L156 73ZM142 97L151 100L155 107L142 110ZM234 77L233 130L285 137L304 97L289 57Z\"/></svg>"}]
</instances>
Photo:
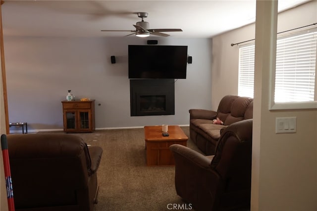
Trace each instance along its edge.
<instances>
[{"instance_id":1,"label":"black fireplace set in the wall below the television","mask_svg":"<svg viewBox=\"0 0 317 211\"><path fill-rule=\"evenodd\" d=\"M174 79L130 80L131 116L174 115Z\"/></svg>"}]
</instances>

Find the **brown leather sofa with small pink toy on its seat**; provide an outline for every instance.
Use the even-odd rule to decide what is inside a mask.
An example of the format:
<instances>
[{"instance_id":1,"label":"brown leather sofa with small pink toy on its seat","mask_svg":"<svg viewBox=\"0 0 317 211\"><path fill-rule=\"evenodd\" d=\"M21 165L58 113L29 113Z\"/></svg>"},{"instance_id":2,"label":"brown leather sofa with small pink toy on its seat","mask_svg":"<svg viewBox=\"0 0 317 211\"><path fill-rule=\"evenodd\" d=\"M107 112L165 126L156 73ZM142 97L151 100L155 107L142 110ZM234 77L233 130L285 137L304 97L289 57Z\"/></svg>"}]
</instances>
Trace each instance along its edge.
<instances>
[{"instance_id":1,"label":"brown leather sofa with small pink toy on its seat","mask_svg":"<svg viewBox=\"0 0 317 211\"><path fill-rule=\"evenodd\" d=\"M190 109L189 131L191 140L205 155L214 155L220 130L244 119L253 118L253 99L236 95L224 96L217 111ZM224 124L213 124L219 118Z\"/></svg>"}]
</instances>

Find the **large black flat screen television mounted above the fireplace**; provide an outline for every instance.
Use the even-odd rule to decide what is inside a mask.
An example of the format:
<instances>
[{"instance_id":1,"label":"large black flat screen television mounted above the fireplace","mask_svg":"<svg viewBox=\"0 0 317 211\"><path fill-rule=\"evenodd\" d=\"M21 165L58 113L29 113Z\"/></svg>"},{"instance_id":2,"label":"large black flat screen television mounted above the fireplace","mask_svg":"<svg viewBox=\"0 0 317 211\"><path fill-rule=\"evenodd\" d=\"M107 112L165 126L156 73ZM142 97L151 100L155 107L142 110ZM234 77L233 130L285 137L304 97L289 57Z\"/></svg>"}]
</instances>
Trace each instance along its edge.
<instances>
[{"instance_id":1,"label":"large black flat screen television mounted above the fireplace","mask_svg":"<svg viewBox=\"0 0 317 211\"><path fill-rule=\"evenodd\" d=\"M187 46L128 46L129 78L186 79Z\"/></svg>"}]
</instances>

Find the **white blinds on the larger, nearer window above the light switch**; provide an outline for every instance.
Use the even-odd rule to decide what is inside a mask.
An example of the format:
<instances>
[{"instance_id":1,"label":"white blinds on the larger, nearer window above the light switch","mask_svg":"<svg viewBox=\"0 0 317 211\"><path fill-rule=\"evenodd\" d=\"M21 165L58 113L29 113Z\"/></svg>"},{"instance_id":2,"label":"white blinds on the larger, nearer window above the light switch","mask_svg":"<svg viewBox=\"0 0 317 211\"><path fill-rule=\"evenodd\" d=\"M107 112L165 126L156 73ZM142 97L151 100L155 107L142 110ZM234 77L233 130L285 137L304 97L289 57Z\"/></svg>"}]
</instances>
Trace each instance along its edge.
<instances>
[{"instance_id":1,"label":"white blinds on the larger, nearer window above the light switch","mask_svg":"<svg viewBox=\"0 0 317 211\"><path fill-rule=\"evenodd\" d=\"M314 101L317 32L277 40L275 103Z\"/></svg>"}]
</instances>

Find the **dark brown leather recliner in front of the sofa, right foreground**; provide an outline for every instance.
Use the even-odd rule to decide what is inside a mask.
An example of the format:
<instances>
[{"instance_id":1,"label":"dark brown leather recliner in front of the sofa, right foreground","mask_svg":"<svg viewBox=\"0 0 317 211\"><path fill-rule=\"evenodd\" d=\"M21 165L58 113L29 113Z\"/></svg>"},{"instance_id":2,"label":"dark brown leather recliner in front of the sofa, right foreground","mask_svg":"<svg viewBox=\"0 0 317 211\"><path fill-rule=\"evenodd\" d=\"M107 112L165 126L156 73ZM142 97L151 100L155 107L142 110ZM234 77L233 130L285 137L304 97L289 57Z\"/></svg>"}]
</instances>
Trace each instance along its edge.
<instances>
[{"instance_id":1,"label":"dark brown leather recliner in front of the sofa, right foreground","mask_svg":"<svg viewBox=\"0 0 317 211\"><path fill-rule=\"evenodd\" d=\"M221 132L214 156L171 145L175 158L175 188L197 211L250 209L252 119L238 121Z\"/></svg>"}]
</instances>

